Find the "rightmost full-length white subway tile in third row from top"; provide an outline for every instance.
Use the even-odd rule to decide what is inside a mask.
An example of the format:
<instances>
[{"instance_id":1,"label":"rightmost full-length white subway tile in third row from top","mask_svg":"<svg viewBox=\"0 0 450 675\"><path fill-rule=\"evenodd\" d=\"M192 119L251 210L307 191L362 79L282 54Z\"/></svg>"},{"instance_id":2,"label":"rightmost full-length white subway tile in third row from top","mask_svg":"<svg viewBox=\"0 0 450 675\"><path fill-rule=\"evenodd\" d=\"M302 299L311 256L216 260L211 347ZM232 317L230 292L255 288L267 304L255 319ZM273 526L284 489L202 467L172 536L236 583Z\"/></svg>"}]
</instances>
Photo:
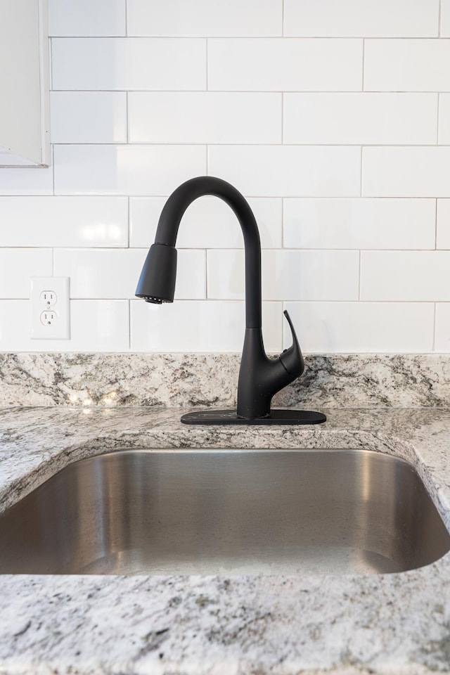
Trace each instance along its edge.
<instances>
[{"instance_id":1,"label":"rightmost full-length white subway tile in third row from top","mask_svg":"<svg viewBox=\"0 0 450 675\"><path fill-rule=\"evenodd\" d=\"M435 143L437 94L285 94L284 142Z\"/></svg>"}]
</instances>

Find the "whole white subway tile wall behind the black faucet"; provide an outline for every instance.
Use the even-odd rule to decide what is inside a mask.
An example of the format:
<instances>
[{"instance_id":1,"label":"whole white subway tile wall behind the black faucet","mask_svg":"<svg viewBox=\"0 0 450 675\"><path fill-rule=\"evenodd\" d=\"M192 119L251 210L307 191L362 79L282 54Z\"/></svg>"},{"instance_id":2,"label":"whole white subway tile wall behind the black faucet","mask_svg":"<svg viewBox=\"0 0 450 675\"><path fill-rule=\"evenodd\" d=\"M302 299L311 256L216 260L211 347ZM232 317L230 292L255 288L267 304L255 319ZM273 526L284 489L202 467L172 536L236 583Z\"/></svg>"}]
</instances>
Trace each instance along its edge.
<instances>
[{"instance_id":1,"label":"whole white subway tile wall behind the black faucet","mask_svg":"<svg viewBox=\"0 0 450 675\"><path fill-rule=\"evenodd\" d=\"M450 351L450 0L50 0L50 34L53 165L0 169L1 350L239 351L219 200L181 224L179 300L133 299L165 198L210 174L259 222L267 349L287 308L305 352ZM52 274L72 340L30 340Z\"/></svg>"}]
</instances>

